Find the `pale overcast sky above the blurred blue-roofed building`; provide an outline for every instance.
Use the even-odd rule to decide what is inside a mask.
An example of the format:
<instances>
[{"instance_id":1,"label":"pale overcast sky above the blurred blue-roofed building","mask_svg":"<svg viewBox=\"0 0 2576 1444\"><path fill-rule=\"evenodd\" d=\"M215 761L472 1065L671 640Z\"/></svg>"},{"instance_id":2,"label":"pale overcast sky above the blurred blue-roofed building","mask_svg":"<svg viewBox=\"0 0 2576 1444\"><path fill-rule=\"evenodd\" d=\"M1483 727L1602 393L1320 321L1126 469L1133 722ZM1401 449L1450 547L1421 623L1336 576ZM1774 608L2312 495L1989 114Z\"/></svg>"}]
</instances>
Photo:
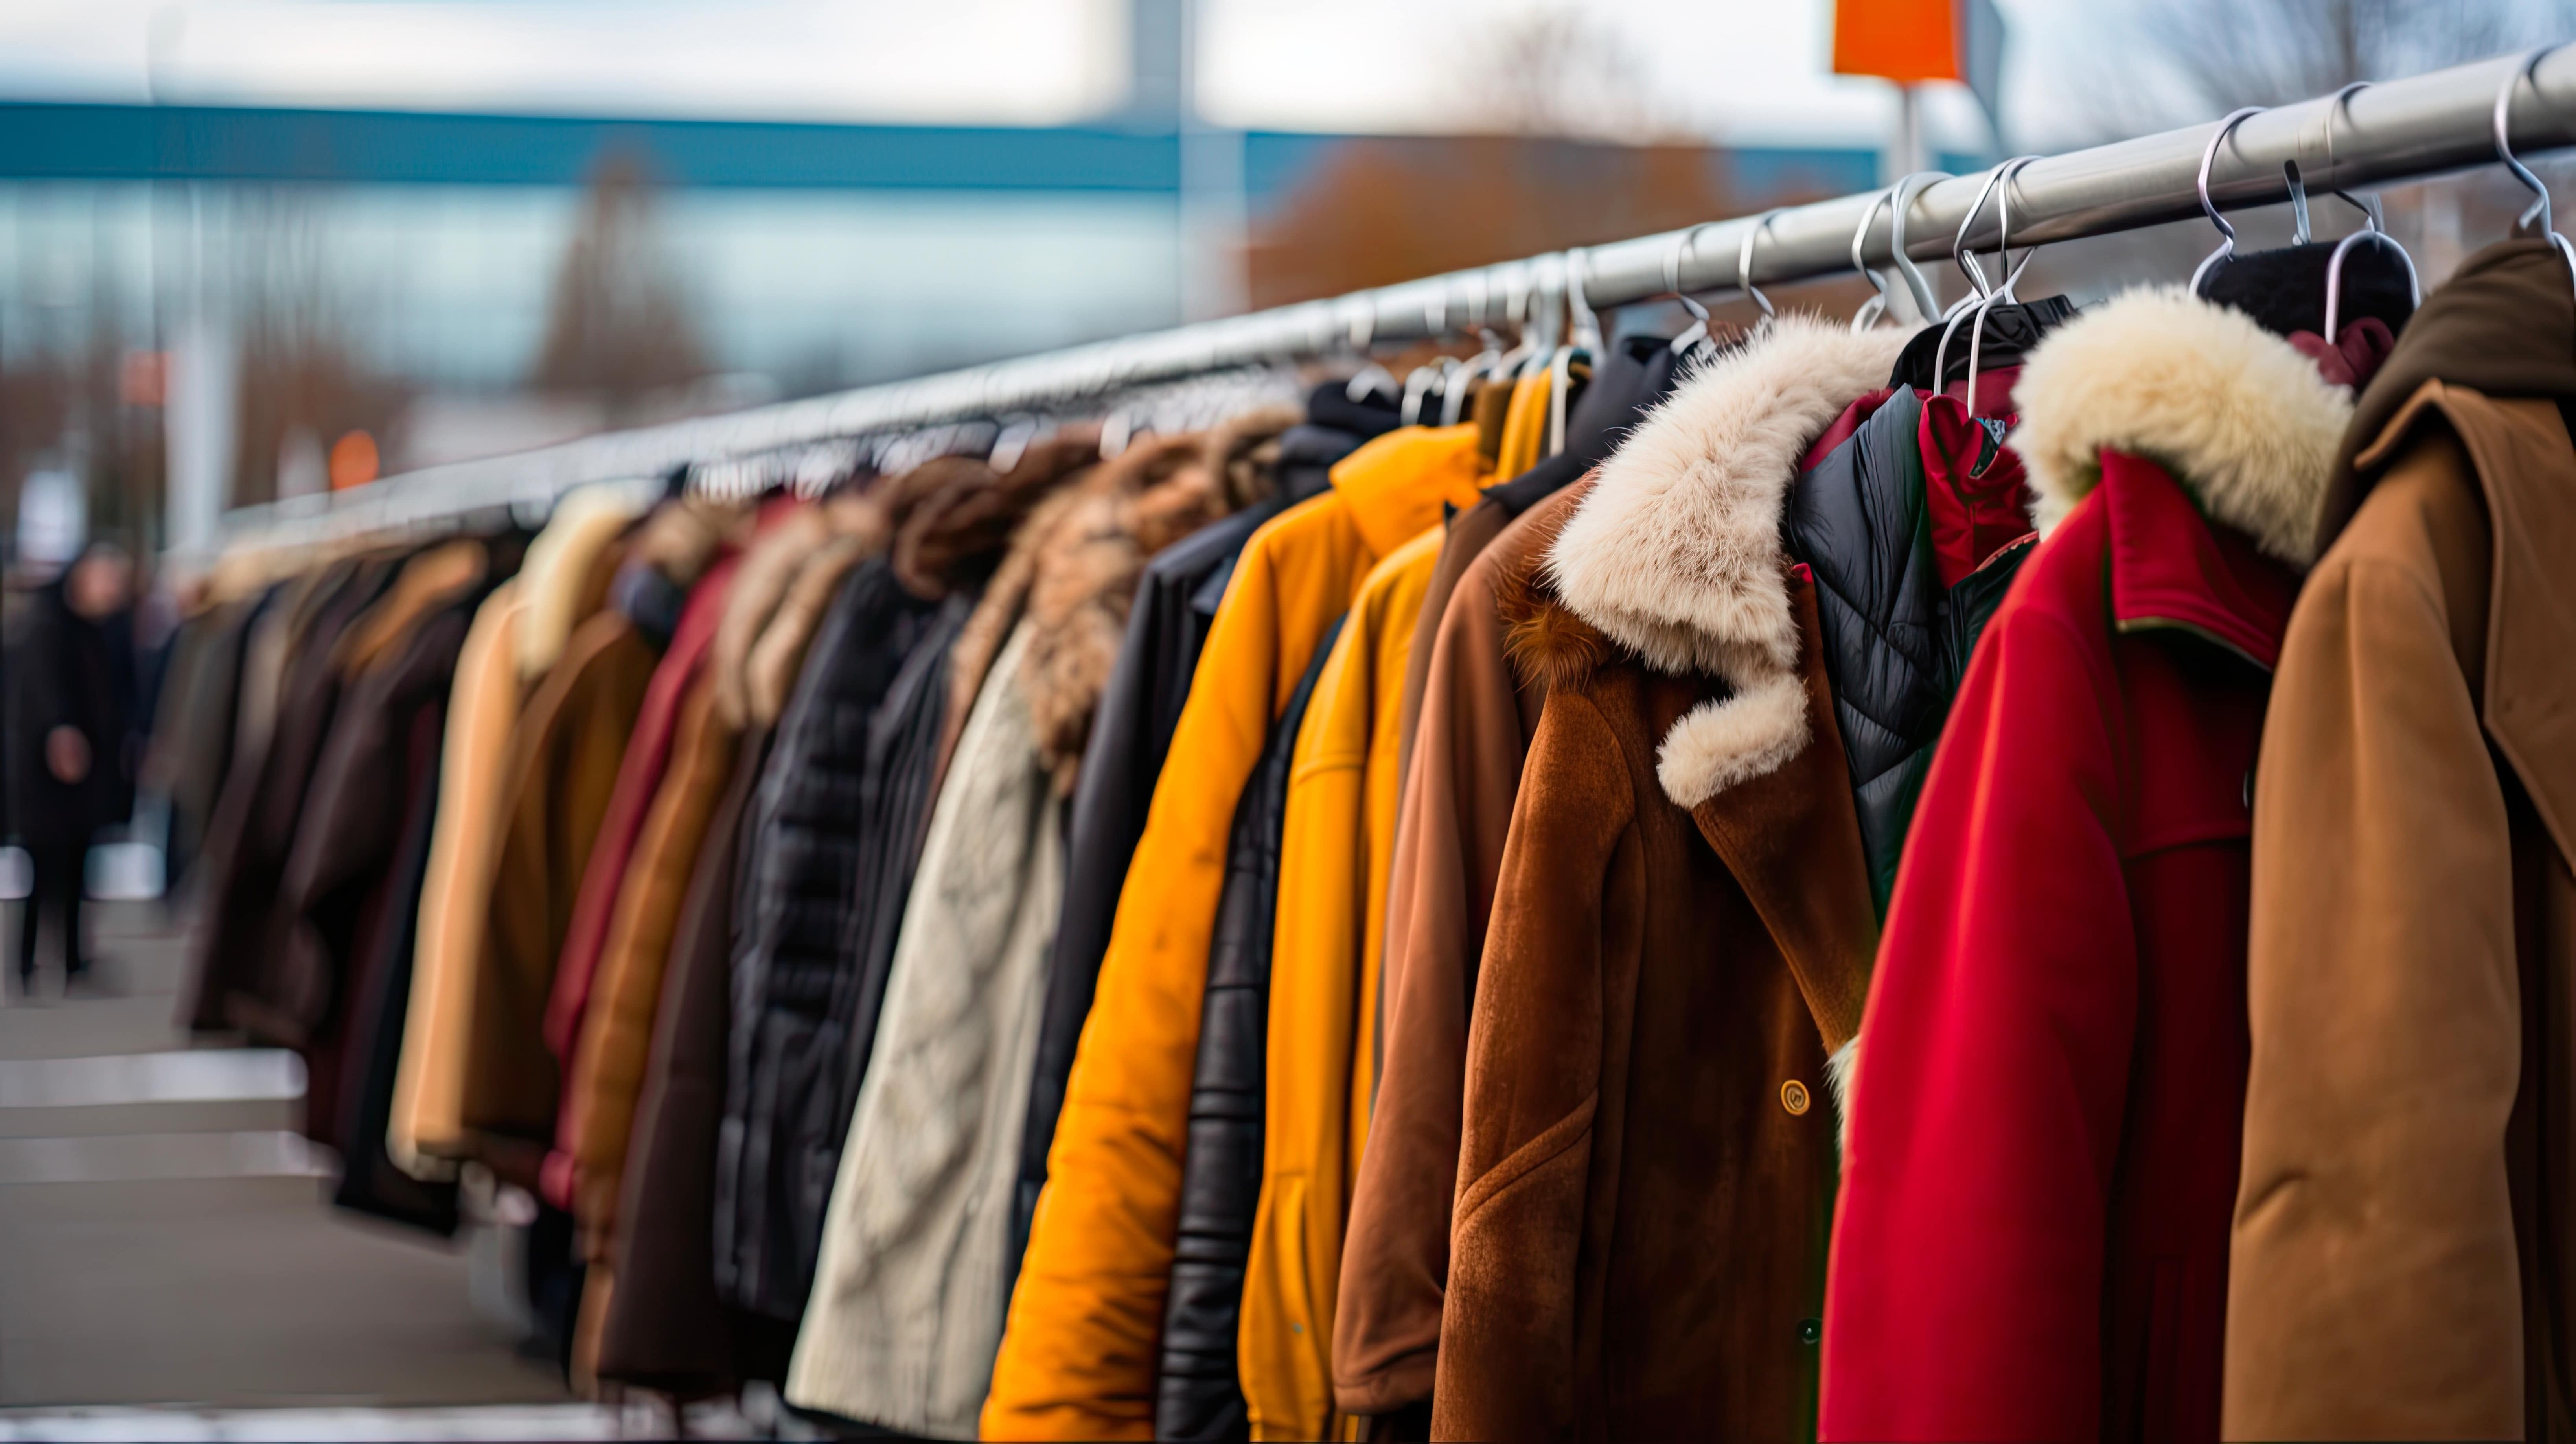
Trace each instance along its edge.
<instances>
[{"instance_id":1,"label":"pale overcast sky above the blurred blue-roofed building","mask_svg":"<svg viewBox=\"0 0 2576 1444\"><path fill-rule=\"evenodd\" d=\"M1236 126L1458 129L1461 39L1574 8L1716 139L1875 144L1891 93L1826 75L1829 0L1203 0L1206 111ZM2030 54L2097 0L2004 0ZM1123 0L5 0L0 95L1059 124L1126 85ZM2007 106L2050 98L2007 77ZM2043 116L2017 119L2022 129ZM1963 93L1942 139L1981 147Z\"/></svg>"}]
</instances>

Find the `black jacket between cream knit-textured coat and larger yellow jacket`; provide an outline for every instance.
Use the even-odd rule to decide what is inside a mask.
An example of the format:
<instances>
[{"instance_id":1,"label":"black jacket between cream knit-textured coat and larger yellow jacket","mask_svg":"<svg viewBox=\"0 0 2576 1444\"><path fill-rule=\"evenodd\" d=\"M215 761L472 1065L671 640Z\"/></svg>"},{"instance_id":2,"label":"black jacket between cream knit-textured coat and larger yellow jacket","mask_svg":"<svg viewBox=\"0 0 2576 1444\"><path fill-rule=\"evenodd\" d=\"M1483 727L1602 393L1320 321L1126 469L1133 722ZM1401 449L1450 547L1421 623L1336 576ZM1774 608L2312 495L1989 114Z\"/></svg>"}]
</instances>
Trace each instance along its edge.
<instances>
[{"instance_id":1,"label":"black jacket between cream knit-textured coat and larger yellow jacket","mask_svg":"<svg viewBox=\"0 0 2576 1444\"><path fill-rule=\"evenodd\" d=\"M1028 1248L1038 1194L1046 1189L1046 1150L1056 1142L1056 1117L1064 1111L1064 1083L1074 1073L1082 1021L1092 1016L1100 959L1118 923L1118 892L1144 835L1154 781L1162 776L1164 753L1172 750L1172 730L1180 727L1180 707L1190 699L1190 676L1198 673L1198 650L1216 621L1216 603L1226 596L1234 560L1273 516L1321 495L1332 485L1332 464L1358 446L1360 436L1327 425L1283 431L1273 495L1172 542L1136 580L1128 629L1110 681L1100 691L1100 714L1092 719L1092 740L1082 750L1082 774L1074 784L1064 913L1046 954L1046 1008L1038 1016L1038 1062L1020 1135L1012 1276Z\"/></svg>"}]
</instances>

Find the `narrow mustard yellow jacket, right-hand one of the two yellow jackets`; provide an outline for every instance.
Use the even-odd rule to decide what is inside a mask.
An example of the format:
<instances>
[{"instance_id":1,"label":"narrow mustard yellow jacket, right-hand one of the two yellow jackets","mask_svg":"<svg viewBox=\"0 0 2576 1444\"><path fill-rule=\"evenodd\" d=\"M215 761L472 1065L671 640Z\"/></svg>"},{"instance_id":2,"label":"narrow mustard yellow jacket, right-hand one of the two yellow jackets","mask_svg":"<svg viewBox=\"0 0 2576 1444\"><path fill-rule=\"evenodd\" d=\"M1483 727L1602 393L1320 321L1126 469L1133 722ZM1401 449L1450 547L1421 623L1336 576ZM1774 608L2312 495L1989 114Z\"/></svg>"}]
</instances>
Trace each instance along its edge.
<instances>
[{"instance_id":1,"label":"narrow mustard yellow jacket, right-hand one of the two yellow jackets","mask_svg":"<svg viewBox=\"0 0 2576 1444\"><path fill-rule=\"evenodd\" d=\"M1262 1196L1236 1356L1255 1439L1332 1439L1332 1294L1376 1093L1396 730L1427 529L1360 583L1296 737L1270 946Z\"/></svg>"}]
</instances>

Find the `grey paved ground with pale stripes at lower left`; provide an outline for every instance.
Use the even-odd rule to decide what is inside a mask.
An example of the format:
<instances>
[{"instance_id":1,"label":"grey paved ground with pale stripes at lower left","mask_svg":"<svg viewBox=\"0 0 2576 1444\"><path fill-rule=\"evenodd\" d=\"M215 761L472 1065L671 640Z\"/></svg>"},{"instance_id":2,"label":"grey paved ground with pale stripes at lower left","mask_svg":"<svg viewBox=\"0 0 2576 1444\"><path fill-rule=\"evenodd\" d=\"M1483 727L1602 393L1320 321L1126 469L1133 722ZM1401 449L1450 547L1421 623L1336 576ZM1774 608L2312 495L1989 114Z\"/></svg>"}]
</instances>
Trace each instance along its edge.
<instances>
[{"instance_id":1,"label":"grey paved ground with pale stripes at lower left","mask_svg":"<svg viewBox=\"0 0 2576 1444\"><path fill-rule=\"evenodd\" d=\"M15 941L15 905L0 913ZM301 1405L340 1410L299 1416L307 1436L348 1436L325 1423L564 1403L551 1367L469 1307L461 1248L330 1207L281 1060L70 1062L188 1047L178 933L155 905L100 905L98 923L118 998L62 1000L49 970L0 1008L0 1410ZM513 1418L556 1416L580 1410ZM116 1418L88 1434L131 1436ZM0 1413L0 1439L36 1423Z\"/></svg>"}]
</instances>

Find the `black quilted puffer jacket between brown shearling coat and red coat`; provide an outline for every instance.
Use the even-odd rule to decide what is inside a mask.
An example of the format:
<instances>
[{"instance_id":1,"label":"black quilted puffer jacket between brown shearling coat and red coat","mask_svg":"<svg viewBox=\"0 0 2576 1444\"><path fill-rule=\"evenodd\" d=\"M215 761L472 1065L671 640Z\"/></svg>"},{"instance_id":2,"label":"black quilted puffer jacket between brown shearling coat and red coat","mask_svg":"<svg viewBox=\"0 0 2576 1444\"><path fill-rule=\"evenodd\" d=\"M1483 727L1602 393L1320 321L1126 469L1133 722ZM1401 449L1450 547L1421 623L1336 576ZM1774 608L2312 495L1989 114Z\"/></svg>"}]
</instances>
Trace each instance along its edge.
<instances>
[{"instance_id":1,"label":"black quilted puffer jacket between brown shearling coat and red coat","mask_svg":"<svg viewBox=\"0 0 2576 1444\"><path fill-rule=\"evenodd\" d=\"M1788 554L1816 572L1824 670L1880 913L1968 652L2030 554L2027 544L2007 544L1955 588L1942 585L1917 441L1922 410L1922 392L1899 387L1798 477L1783 521Z\"/></svg>"}]
</instances>

